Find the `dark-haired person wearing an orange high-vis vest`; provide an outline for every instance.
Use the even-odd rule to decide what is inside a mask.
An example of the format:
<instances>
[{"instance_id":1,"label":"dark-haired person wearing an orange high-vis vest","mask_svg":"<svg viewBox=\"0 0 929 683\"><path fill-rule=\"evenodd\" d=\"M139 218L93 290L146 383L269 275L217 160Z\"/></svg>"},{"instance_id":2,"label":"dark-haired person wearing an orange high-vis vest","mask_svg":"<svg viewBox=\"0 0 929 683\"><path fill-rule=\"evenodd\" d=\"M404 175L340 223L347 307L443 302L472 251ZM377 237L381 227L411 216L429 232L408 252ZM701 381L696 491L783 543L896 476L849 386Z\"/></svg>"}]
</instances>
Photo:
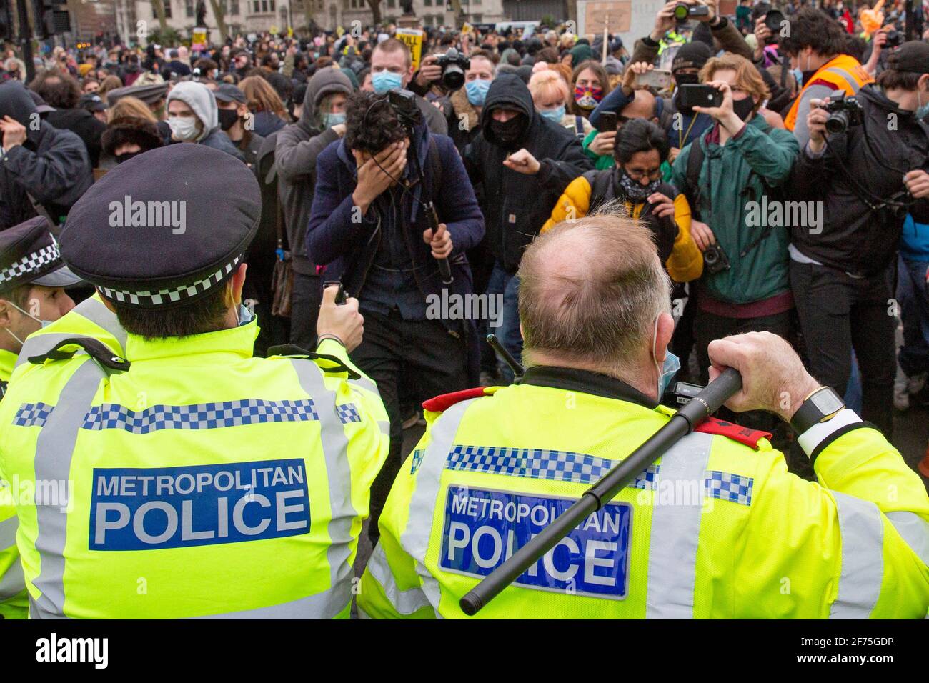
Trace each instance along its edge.
<instances>
[{"instance_id":1,"label":"dark-haired person wearing an orange high-vis vest","mask_svg":"<svg viewBox=\"0 0 929 683\"><path fill-rule=\"evenodd\" d=\"M842 26L820 9L804 7L791 18L790 31L781 38L780 49L791 59L791 68L802 72L801 90L784 125L793 131L800 148L809 139L807 114L814 99L831 97L837 91L855 95L871 82L857 59L843 54L847 34Z\"/></svg>"}]
</instances>

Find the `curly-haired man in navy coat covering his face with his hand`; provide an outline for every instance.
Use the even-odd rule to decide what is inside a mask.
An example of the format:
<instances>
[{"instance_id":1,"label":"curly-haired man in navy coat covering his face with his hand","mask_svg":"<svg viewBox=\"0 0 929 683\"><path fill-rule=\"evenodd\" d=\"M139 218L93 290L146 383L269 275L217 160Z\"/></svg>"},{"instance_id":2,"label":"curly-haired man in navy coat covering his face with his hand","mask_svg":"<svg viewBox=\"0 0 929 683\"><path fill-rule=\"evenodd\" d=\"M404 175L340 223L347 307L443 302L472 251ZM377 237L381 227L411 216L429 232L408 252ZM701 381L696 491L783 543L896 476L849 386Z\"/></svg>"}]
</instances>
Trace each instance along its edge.
<instances>
[{"instance_id":1,"label":"curly-haired man in navy coat covering his face with his hand","mask_svg":"<svg viewBox=\"0 0 929 683\"><path fill-rule=\"evenodd\" d=\"M483 218L458 151L429 133L414 97L362 90L348 98L345 136L317 158L307 226L307 254L360 301L365 335L351 359L377 383L390 416L390 454L372 490L373 539L401 463L400 385L418 402L478 384L474 321L451 306L437 319L426 301L473 294L464 251L484 236ZM441 221L435 232L428 202ZM451 284L442 283L438 258L448 259Z\"/></svg>"}]
</instances>

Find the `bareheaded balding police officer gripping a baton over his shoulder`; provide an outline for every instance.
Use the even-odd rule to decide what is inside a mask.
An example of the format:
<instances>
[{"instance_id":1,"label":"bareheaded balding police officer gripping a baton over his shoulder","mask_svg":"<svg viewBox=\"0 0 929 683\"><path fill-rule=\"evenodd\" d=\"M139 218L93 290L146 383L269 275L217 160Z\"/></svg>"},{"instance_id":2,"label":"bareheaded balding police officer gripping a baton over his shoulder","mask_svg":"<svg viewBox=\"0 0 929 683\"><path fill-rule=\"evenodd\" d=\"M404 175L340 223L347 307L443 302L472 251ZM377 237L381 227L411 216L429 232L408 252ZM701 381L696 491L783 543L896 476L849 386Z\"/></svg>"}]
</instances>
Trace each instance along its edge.
<instances>
[{"instance_id":1,"label":"bareheaded balding police officer gripping a baton over his shoulder","mask_svg":"<svg viewBox=\"0 0 929 683\"><path fill-rule=\"evenodd\" d=\"M519 269L530 368L427 401L361 581L370 617L462 617L459 599L662 425L674 374L668 282L648 230L562 223ZM819 482L765 433L711 420L678 441L480 617L915 617L929 608L929 497L875 428L787 342L714 341L727 405L790 420Z\"/></svg>"}]
</instances>

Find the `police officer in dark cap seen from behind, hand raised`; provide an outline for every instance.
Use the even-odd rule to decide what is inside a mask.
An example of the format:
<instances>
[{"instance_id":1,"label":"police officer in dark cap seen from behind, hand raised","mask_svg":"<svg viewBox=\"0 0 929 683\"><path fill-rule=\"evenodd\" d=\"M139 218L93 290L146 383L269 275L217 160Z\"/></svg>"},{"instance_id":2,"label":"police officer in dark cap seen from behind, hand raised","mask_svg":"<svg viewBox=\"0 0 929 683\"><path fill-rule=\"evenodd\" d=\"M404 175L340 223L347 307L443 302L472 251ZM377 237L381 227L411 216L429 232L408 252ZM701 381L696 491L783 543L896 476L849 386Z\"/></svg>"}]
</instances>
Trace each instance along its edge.
<instances>
[{"instance_id":1,"label":"police officer in dark cap seen from behind, hand raised","mask_svg":"<svg viewBox=\"0 0 929 683\"><path fill-rule=\"evenodd\" d=\"M315 353L253 358L260 209L251 172L197 145L72 208L61 254L98 296L26 341L0 403L0 475L41 484L17 507L31 617L348 615L386 412L334 287Z\"/></svg>"}]
</instances>

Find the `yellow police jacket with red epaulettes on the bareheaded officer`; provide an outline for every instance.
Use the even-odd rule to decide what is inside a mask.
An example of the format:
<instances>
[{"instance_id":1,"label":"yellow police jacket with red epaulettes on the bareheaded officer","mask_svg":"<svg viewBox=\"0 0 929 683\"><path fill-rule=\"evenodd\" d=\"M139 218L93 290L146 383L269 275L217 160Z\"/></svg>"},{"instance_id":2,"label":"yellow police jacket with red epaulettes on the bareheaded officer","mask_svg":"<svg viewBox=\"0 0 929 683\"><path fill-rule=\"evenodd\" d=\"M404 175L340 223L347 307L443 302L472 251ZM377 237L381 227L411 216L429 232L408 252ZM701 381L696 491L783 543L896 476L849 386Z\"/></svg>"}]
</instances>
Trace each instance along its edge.
<instances>
[{"instance_id":1,"label":"yellow police jacket with red epaulettes on the bareheaded officer","mask_svg":"<svg viewBox=\"0 0 929 683\"><path fill-rule=\"evenodd\" d=\"M546 367L425 408L361 579L370 617L464 616L465 593L673 413L605 375ZM765 436L706 423L478 616L924 617L929 497L893 446L844 410L799 437L817 484Z\"/></svg>"}]
</instances>

